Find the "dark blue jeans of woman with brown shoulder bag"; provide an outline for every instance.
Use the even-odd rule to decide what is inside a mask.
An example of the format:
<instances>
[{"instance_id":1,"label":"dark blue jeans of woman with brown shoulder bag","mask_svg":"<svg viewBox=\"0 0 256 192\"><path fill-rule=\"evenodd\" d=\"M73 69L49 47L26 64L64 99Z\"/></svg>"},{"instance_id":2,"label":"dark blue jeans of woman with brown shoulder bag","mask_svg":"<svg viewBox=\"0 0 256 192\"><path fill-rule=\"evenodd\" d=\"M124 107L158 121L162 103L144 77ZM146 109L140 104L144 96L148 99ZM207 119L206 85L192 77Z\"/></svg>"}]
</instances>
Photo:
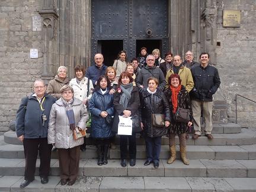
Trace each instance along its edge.
<instances>
[{"instance_id":1,"label":"dark blue jeans of woman with brown shoulder bag","mask_svg":"<svg viewBox=\"0 0 256 192\"><path fill-rule=\"evenodd\" d=\"M146 153L148 161L159 162L161 152L161 137L145 137Z\"/></svg>"}]
</instances>

